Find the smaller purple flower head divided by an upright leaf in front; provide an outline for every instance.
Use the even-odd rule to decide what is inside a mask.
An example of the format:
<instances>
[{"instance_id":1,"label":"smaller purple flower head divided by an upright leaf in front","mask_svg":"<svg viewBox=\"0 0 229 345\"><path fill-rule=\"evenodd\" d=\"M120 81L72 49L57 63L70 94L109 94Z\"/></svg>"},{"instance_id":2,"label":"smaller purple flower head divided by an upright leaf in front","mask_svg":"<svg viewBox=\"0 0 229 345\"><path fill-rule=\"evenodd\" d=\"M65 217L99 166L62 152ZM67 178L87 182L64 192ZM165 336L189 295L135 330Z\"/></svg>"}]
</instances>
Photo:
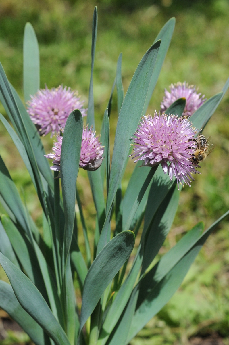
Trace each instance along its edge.
<instances>
[{"instance_id":1,"label":"smaller purple flower head divided by an upright leaf in front","mask_svg":"<svg viewBox=\"0 0 229 345\"><path fill-rule=\"evenodd\" d=\"M85 170L94 171L97 170L102 164L103 160L103 147L99 141L99 137L95 136L96 132L92 128L83 128L82 144L80 151L80 168ZM50 169L60 171L61 164L61 146L62 136L57 135L57 141L54 142L52 150L53 153L49 153L45 157L53 159L53 166Z\"/></svg>"}]
</instances>

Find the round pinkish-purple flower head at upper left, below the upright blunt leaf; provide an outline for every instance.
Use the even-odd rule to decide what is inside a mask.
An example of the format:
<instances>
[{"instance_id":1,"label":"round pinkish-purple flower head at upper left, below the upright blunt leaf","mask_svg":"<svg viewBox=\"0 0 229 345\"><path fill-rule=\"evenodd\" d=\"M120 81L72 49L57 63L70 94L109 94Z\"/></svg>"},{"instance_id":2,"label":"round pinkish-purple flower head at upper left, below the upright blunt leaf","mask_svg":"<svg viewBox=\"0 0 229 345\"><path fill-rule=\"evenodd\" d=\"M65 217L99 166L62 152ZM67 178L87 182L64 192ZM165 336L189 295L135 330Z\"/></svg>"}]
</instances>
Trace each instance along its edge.
<instances>
[{"instance_id":1,"label":"round pinkish-purple flower head at upper left, below the upright blunt leaf","mask_svg":"<svg viewBox=\"0 0 229 345\"><path fill-rule=\"evenodd\" d=\"M87 109L83 108L83 102L77 97L78 91L71 91L67 86L49 90L39 90L28 101L28 113L33 123L39 128L40 135L47 135L51 131L51 137L60 134L68 116L74 109L79 109L82 116L87 115Z\"/></svg>"}]
</instances>

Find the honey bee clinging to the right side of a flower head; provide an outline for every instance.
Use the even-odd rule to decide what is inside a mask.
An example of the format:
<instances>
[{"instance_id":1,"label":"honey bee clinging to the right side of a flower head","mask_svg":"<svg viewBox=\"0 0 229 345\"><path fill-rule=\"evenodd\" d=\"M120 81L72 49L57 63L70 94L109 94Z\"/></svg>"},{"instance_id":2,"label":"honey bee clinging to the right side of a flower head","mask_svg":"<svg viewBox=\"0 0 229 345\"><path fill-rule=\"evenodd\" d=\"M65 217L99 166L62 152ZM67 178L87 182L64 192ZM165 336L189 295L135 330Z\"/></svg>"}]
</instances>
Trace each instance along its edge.
<instances>
[{"instance_id":1,"label":"honey bee clinging to the right side of a flower head","mask_svg":"<svg viewBox=\"0 0 229 345\"><path fill-rule=\"evenodd\" d=\"M195 149L195 152L192 155L193 157L190 159L190 161L196 165L205 160L211 151L216 147L216 145L212 144L211 137L206 139L202 134L198 134L196 139L189 139L188 141L197 142L197 148L189 147L189 149Z\"/></svg>"}]
</instances>

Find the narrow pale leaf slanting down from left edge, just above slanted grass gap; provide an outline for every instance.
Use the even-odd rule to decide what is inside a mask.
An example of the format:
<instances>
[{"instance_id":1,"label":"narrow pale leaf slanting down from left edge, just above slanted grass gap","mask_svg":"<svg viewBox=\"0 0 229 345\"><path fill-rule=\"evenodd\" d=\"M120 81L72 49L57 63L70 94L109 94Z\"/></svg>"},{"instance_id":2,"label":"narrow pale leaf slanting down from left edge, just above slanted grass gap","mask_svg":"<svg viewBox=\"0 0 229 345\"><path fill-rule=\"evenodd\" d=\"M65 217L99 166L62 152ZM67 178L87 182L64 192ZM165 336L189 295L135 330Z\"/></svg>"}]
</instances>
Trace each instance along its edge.
<instances>
[{"instance_id":1,"label":"narrow pale leaf slanting down from left edge, just above slanted grass gap","mask_svg":"<svg viewBox=\"0 0 229 345\"><path fill-rule=\"evenodd\" d=\"M14 130L12 129L12 127L10 126L9 122L4 118L4 116L2 114L0 114L0 120L2 121L3 125L5 126L6 130L8 131L11 139L13 140L14 145L17 147L18 152L29 172L29 175L32 179L32 182L34 184L34 187L36 188L36 182L34 181L34 175L33 175L33 171L32 171L32 167L26 152L26 149L24 148L24 145L22 144L21 140L19 139L19 137L17 136L17 134L14 132Z\"/></svg>"}]
</instances>

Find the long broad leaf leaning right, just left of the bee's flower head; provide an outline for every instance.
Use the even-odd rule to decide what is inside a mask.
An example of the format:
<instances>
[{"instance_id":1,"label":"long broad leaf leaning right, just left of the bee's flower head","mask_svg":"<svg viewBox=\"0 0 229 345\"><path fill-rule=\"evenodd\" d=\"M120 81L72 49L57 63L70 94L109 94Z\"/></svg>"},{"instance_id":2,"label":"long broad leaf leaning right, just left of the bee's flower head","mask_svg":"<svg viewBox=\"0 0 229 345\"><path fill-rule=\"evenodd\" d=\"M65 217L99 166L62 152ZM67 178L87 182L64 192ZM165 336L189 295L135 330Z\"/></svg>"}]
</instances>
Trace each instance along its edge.
<instances>
[{"instance_id":1,"label":"long broad leaf leaning right, just left of the bee's flower head","mask_svg":"<svg viewBox=\"0 0 229 345\"><path fill-rule=\"evenodd\" d=\"M99 253L107 243L107 231L111 215L110 210L125 167L131 145L131 136L136 131L143 112L159 47L160 41L157 41L148 49L141 59L122 103L116 128L115 144L111 163L107 197L107 219L104 222L99 238L97 253Z\"/></svg>"}]
</instances>

